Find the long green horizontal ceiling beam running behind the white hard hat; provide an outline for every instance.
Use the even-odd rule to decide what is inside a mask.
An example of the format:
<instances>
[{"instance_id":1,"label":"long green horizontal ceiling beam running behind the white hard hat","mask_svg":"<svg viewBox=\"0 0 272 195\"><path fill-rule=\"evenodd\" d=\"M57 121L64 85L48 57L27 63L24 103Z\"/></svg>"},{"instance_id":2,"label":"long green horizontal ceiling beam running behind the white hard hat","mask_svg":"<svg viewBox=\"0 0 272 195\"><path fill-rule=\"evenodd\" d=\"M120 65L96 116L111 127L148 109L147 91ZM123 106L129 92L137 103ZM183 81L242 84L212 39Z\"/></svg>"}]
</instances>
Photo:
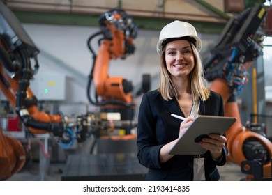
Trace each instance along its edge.
<instances>
[{"instance_id":1,"label":"long green horizontal ceiling beam running behind the white hard hat","mask_svg":"<svg viewBox=\"0 0 272 195\"><path fill-rule=\"evenodd\" d=\"M77 13L47 13L13 10L13 13L21 23L56 24L98 26L100 15L88 15ZM137 17L133 20L139 29L160 30L165 24L175 20L174 18ZM199 33L220 33L226 23L187 21L195 26Z\"/></svg>"}]
</instances>

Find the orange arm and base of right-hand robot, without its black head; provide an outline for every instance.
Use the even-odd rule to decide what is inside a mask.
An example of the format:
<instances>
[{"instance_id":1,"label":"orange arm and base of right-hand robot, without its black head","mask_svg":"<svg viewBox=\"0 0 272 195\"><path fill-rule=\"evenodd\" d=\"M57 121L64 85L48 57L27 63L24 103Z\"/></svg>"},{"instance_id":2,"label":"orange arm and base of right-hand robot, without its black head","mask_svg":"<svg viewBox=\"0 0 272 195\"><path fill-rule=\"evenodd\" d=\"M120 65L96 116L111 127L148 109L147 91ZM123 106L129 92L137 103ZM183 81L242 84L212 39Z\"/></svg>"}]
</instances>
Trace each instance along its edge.
<instances>
[{"instance_id":1,"label":"orange arm and base of right-hand robot, without its black head","mask_svg":"<svg viewBox=\"0 0 272 195\"><path fill-rule=\"evenodd\" d=\"M269 159L272 157L272 143L266 137L256 132L250 131L250 129L243 126L241 123L239 106L235 99L232 99L232 94L229 93L230 89L227 85L227 82L224 79L214 79L211 82L211 90L216 91L222 95L222 98L225 103L225 116L236 117L237 120L226 132L227 137L227 147L229 150L228 160L236 164L241 165L245 160L249 159L245 155L245 144L248 141L253 141L261 143L264 149L266 150L266 155L264 156L264 166L263 173L264 177L271 177L271 162Z\"/></svg>"}]
</instances>

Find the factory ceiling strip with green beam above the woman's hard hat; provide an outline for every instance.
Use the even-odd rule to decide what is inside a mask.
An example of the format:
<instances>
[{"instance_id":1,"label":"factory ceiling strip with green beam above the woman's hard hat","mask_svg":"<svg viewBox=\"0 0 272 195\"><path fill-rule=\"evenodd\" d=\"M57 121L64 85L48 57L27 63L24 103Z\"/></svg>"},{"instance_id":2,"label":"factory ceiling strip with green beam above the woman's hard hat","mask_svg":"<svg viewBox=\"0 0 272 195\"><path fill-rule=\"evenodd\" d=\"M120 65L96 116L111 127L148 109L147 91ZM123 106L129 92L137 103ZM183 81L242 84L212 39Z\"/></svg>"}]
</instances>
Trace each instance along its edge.
<instances>
[{"instance_id":1,"label":"factory ceiling strip with green beam above the woman's hard hat","mask_svg":"<svg viewBox=\"0 0 272 195\"><path fill-rule=\"evenodd\" d=\"M220 33L235 12L245 9L245 3L239 7L237 4L239 1L235 1L236 4L232 6L232 2L226 4L224 0L7 0L3 2L22 23L98 26L98 18L102 13L112 8L122 8L133 16L139 29L158 30L172 20L184 20L192 23L197 31L202 33Z\"/></svg>"}]
</instances>

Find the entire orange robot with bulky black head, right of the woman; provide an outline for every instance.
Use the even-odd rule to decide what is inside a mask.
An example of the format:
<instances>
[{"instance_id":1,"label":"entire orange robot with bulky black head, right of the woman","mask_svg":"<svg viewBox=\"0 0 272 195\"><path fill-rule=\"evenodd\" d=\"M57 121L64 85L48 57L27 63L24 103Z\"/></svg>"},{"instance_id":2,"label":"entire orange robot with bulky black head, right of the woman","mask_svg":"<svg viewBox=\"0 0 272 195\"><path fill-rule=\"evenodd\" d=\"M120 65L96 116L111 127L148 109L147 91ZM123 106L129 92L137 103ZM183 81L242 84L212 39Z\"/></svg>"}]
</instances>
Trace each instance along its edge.
<instances>
[{"instance_id":1,"label":"entire orange robot with bulky black head, right of the woman","mask_svg":"<svg viewBox=\"0 0 272 195\"><path fill-rule=\"evenodd\" d=\"M204 61L204 69L211 89L222 95L225 116L237 118L226 132L229 161L241 165L245 161L262 159L264 177L271 177L272 143L264 134L253 131L256 124L244 126L241 123L236 102L248 83L248 68L262 55L264 33L258 30L265 17L266 10L262 6L248 8L232 17L211 49L211 57ZM257 92L253 89L253 93Z\"/></svg>"}]
</instances>

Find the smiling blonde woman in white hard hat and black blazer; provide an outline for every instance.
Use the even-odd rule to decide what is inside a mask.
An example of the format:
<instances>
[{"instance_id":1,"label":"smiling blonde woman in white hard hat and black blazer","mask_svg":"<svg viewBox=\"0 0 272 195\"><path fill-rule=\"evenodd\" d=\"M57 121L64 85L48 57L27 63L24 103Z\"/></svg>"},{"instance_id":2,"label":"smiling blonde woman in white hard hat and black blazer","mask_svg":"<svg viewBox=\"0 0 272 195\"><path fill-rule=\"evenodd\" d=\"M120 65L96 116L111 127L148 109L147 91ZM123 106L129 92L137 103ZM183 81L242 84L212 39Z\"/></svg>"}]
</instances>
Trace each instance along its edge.
<instances>
[{"instance_id":1,"label":"smiling blonde woman in white hard hat and black blazer","mask_svg":"<svg viewBox=\"0 0 272 195\"><path fill-rule=\"evenodd\" d=\"M199 145L208 150L204 155L169 155L196 116L224 116L221 95L211 91L204 79L201 47L188 22L176 20L160 31L160 86L143 95L138 116L137 157L149 168L146 180L220 179L216 166L226 163L225 136L210 134L202 139ZM172 113L186 120L180 122Z\"/></svg>"}]
</instances>

